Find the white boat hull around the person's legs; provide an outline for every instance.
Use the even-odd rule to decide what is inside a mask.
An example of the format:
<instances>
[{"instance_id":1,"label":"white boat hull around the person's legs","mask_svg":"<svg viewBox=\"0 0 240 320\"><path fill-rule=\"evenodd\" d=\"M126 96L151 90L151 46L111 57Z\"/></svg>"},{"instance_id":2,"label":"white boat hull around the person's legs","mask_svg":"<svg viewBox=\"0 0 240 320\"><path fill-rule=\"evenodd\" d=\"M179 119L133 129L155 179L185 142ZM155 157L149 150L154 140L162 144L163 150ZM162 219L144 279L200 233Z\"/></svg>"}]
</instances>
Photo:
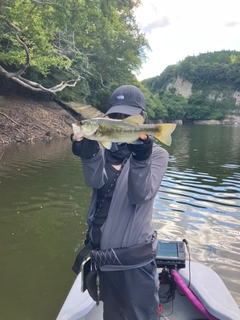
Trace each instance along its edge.
<instances>
[{"instance_id":1,"label":"white boat hull around the person's legs","mask_svg":"<svg viewBox=\"0 0 240 320\"><path fill-rule=\"evenodd\" d=\"M166 320L220 319L240 320L240 310L221 278L210 268L191 262L191 292L197 296L210 316L202 312L182 295L179 288L175 291L173 302L163 304L161 315ZM179 270L182 280L188 285L189 269ZM65 300L57 320L103 320L103 305L97 306L88 292L81 291L81 274L79 274ZM161 285L160 290L165 290ZM161 317L160 317L161 319Z\"/></svg>"}]
</instances>

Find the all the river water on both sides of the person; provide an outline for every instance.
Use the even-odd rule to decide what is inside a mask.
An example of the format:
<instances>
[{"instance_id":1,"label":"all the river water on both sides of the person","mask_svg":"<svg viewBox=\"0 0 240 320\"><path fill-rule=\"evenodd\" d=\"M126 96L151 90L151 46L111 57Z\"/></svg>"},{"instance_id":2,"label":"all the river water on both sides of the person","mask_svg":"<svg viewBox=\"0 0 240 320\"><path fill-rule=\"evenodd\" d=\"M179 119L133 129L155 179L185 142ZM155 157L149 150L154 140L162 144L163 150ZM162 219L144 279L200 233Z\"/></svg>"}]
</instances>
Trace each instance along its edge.
<instances>
[{"instance_id":1,"label":"all the river water on both sides of the person","mask_svg":"<svg viewBox=\"0 0 240 320\"><path fill-rule=\"evenodd\" d=\"M188 240L240 305L240 126L178 126L154 204L161 239ZM68 139L0 155L0 319L54 320L75 279L91 190Z\"/></svg>"}]
</instances>

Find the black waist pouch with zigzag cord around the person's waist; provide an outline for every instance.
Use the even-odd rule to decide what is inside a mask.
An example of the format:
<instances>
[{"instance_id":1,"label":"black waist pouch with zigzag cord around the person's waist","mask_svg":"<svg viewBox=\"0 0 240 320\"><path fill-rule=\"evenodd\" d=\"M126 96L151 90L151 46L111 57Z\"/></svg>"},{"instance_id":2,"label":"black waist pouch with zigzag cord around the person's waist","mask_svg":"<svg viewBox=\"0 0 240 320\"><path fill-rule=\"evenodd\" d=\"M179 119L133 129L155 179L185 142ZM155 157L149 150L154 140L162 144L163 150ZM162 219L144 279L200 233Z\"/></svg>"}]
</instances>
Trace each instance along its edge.
<instances>
[{"instance_id":1,"label":"black waist pouch with zigzag cord around the person's waist","mask_svg":"<svg viewBox=\"0 0 240 320\"><path fill-rule=\"evenodd\" d=\"M157 253L157 232L151 239L130 247L91 250L90 255L95 267L104 265L137 265L155 259Z\"/></svg>"}]
</instances>

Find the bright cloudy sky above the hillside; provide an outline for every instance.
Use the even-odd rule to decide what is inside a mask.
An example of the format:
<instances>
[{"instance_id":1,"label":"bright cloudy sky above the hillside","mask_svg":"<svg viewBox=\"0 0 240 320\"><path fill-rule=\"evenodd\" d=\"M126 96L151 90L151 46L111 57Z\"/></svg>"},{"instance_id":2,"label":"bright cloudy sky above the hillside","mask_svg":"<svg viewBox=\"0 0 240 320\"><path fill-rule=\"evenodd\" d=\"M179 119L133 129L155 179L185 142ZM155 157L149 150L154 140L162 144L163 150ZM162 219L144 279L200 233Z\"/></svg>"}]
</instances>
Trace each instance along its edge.
<instances>
[{"instance_id":1,"label":"bright cloudy sky above the hillside","mask_svg":"<svg viewBox=\"0 0 240 320\"><path fill-rule=\"evenodd\" d=\"M135 17L152 50L140 81L187 56L240 51L240 0L142 0Z\"/></svg>"}]
</instances>

